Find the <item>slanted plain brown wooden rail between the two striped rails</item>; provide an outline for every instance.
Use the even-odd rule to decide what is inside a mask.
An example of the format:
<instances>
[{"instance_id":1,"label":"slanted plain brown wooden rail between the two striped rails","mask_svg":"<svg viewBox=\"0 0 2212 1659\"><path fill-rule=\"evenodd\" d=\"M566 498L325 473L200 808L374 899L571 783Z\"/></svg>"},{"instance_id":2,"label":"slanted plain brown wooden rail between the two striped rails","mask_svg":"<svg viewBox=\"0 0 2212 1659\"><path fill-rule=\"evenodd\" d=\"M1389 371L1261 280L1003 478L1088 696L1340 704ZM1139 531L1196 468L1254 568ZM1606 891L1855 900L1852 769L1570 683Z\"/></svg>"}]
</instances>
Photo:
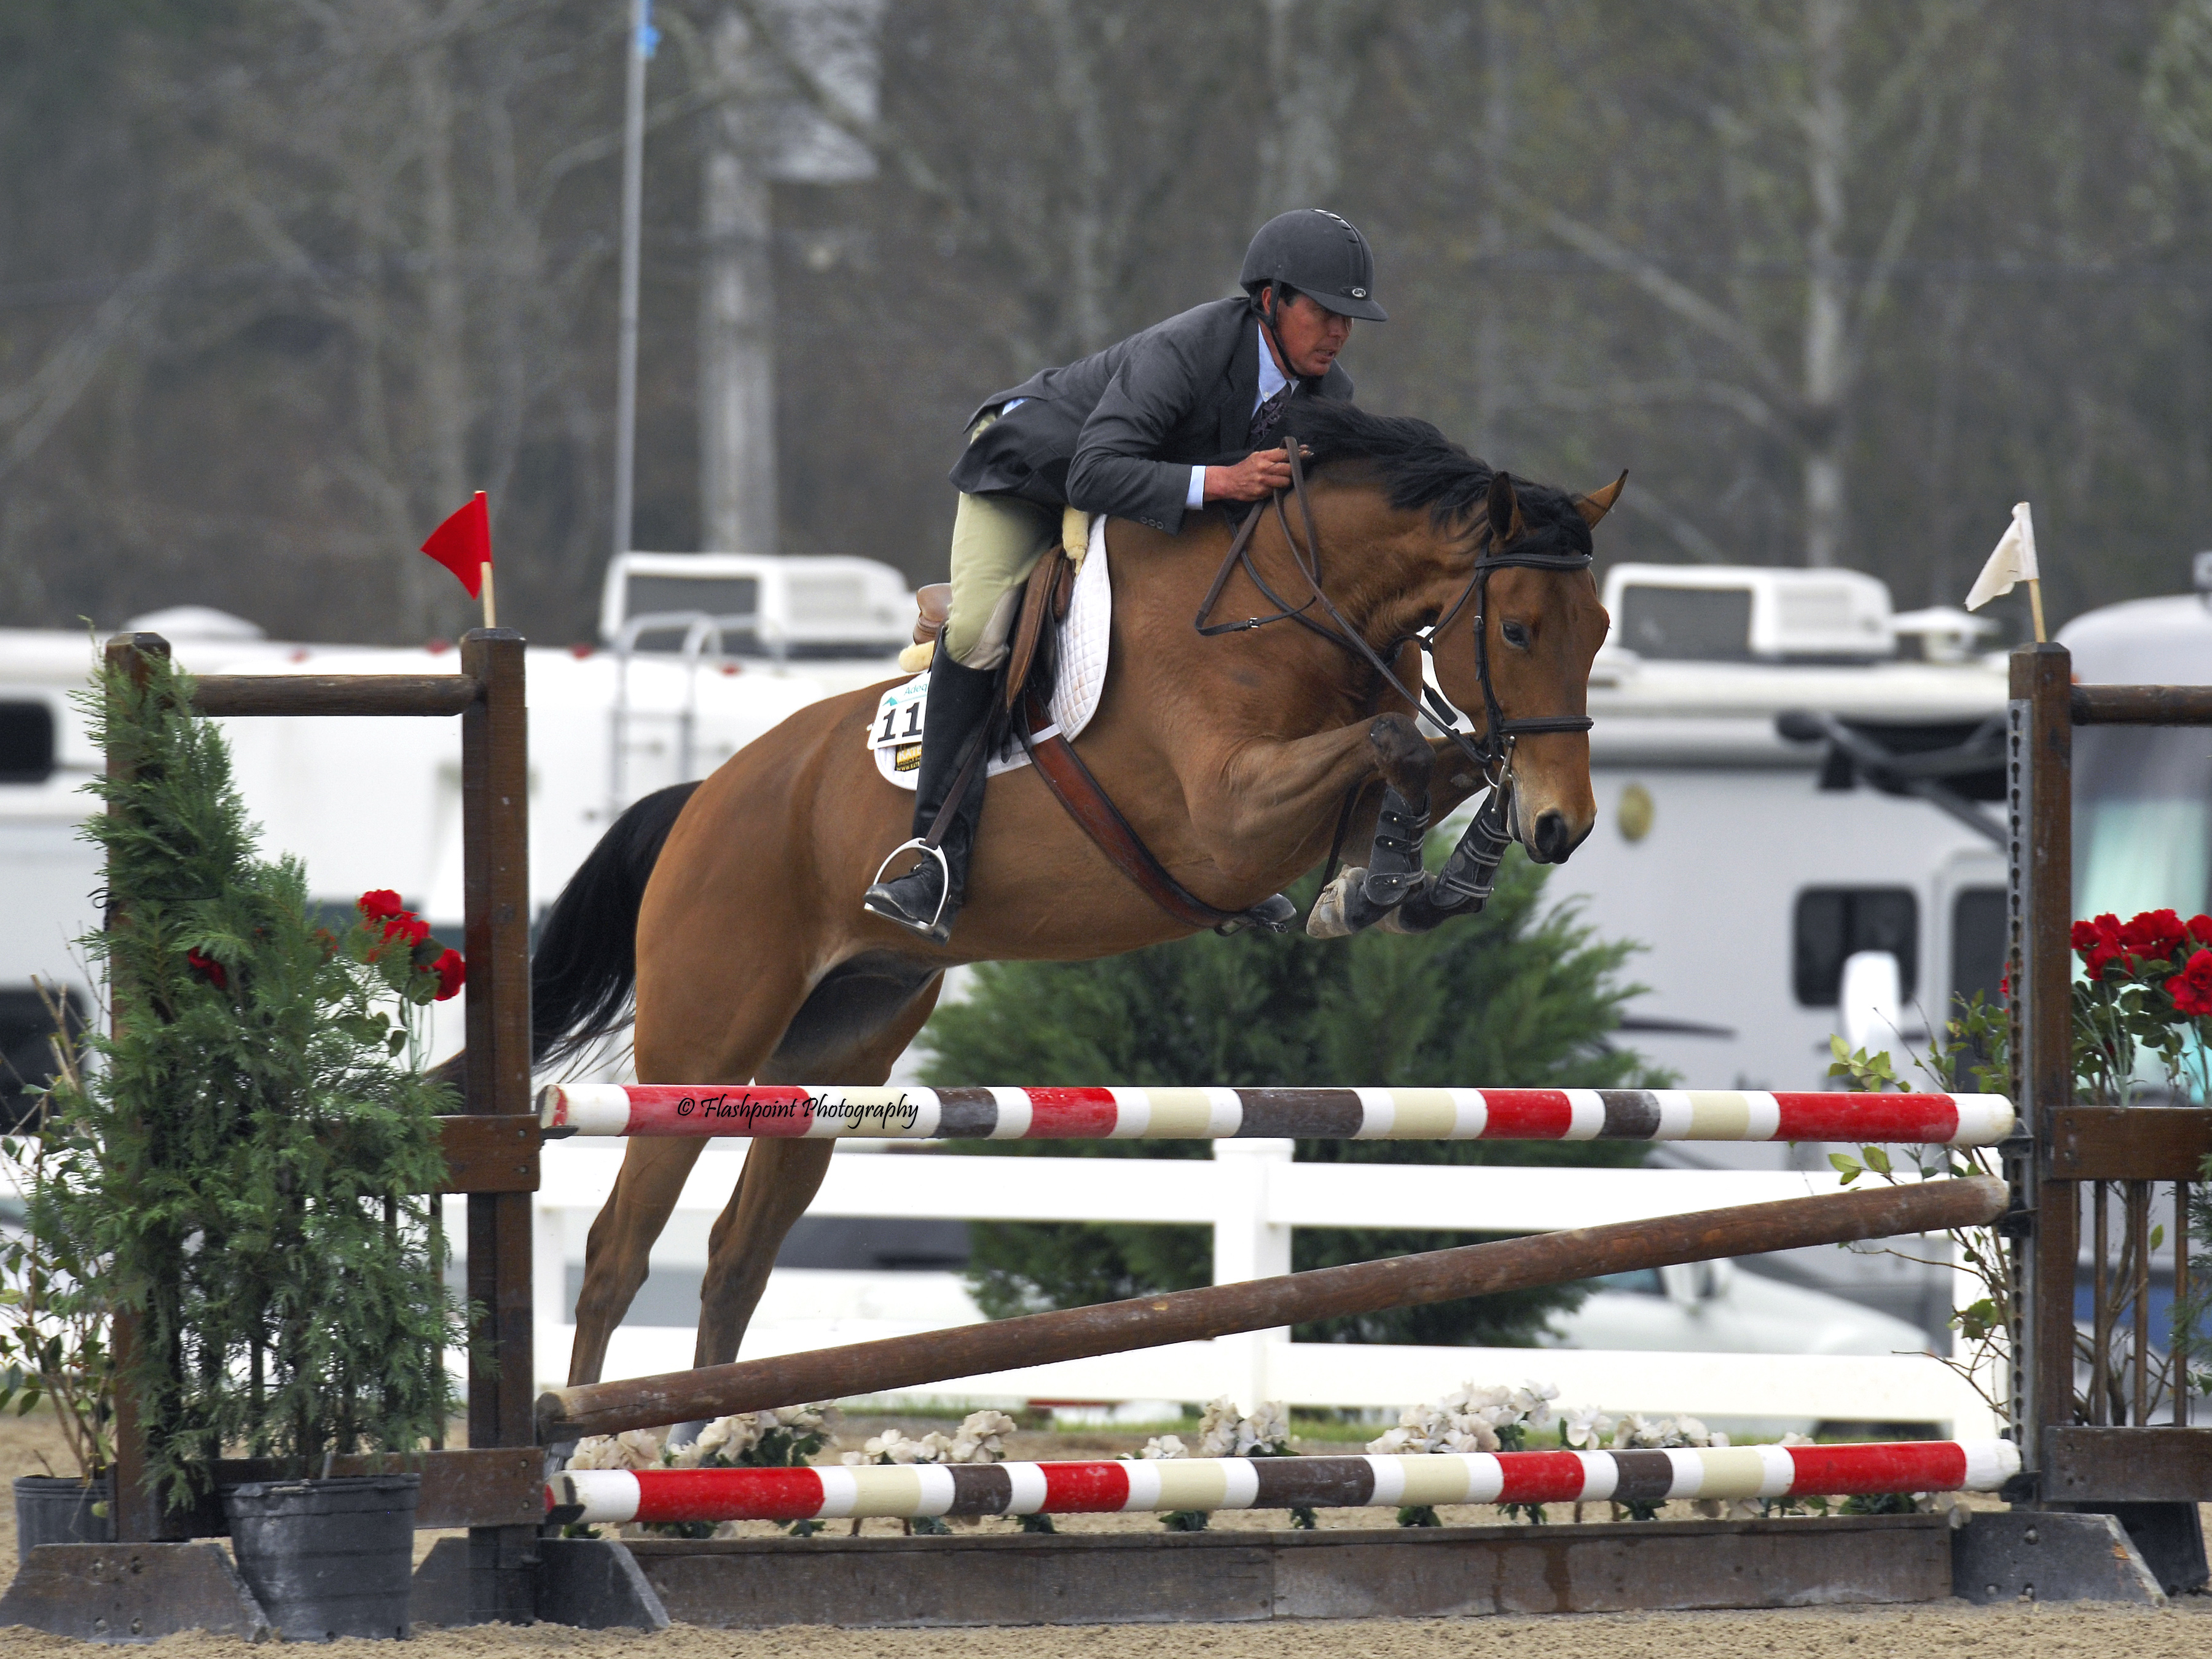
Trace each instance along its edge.
<instances>
[{"instance_id":1,"label":"slanted plain brown wooden rail between the two striped rails","mask_svg":"<svg viewBox=\"0 0 2212 1659\"><path fill-rule=\"evenodd\" d=\"M1301 1325L1314 1318L1562 1285L1637 1267L1891 1239L1900 1232L1975 1228L2002 1217L2004 1208L2004 1181L1980 1177L1544 1232L1097 1307L956 1325L812 1354L779 1354L697 1371L549 1389L538 1398L538 1429L546 1440L619 1433L805 1400L883 1394L980 1371Z\"/></svg>"}]
</instances>

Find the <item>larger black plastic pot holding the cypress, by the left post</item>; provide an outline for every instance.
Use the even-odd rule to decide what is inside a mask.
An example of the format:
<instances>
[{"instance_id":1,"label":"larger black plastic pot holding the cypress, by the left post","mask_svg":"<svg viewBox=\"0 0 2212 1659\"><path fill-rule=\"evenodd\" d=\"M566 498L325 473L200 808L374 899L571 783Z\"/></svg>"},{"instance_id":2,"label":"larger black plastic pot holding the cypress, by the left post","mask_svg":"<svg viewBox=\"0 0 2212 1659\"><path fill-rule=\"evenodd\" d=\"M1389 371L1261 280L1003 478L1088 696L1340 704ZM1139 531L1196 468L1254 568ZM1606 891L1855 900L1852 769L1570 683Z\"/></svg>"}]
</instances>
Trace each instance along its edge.
<instances>
[{"instance_id":1,"label":"larger black plastic pot holding the cypress, by the left post","mask_svg":"<svg viewBox=\"0 0 2212 1659\"><path fill-rule=\"evenodd\" d=\"M422 1475L223 1489L246 1588L285 1641L405 1637Z\"/></svg>"}]
</instances>

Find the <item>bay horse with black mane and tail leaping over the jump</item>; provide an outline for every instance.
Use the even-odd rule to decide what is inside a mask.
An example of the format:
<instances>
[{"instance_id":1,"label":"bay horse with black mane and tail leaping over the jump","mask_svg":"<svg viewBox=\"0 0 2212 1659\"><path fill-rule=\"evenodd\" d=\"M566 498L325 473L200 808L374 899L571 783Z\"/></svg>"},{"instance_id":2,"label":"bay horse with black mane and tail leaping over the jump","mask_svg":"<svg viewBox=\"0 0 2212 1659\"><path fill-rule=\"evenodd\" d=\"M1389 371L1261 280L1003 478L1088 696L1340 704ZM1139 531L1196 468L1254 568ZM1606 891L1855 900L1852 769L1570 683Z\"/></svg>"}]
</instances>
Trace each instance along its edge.
<instances>
[{"instance_id":1,"label":"bay horse with black mane and tail leaping over the jump","mask_svg":"<svg viewBox=\"0 0 2212 1659\"><path fill-rule=\"evenodd\" d=\"M1586 710L1608 626L1590 529L1619 482L1571 498L1493 473L1427 422L1338 403L1296 409L1285 429L1312 453L1312 562L1287 518L1263 520L1214 615L1259 619L1279 608L1270 595L1290 606L1325 597L1321 613L1369 653L1314 626L1201 635L1192 617L1225 564L1230 522L1206 513L1166 535L1115 520L1113 648L1082 759L1186 889L1221 909L1252 907L1334 841L1365 845L1385 783L1436 814L1482 787L1460 748L1420 734L1413 706L1376 668L1387 659L1398 686L1418 690L1416 635L1444 619L1429 641L1436 686L1478 732L1484 710L1493 723L1502 712L1540 728L1509 745L1511 836L1542 863L1564 860L1597 814L1588 730L1573 717ZM1535 562L1502 557L1515 553ZM1491 562L1480 595L1478 557ZM914 810L867 750L880 690L812 703L701 783L650 794L615 821L533 958L540 1064L617 1033L635 1006L641 1082L883 1084L949 967L1088 960L1194 931L1106 860L1035 768L989 781L949 945L863 911L860 891L907 838ZM599 1380L701 1146L626 1146L591 1228L568 1383ZM737 1358L832 1146L752 1141L710 1232L695 1365Z\"/></svg>"}]
</instances>

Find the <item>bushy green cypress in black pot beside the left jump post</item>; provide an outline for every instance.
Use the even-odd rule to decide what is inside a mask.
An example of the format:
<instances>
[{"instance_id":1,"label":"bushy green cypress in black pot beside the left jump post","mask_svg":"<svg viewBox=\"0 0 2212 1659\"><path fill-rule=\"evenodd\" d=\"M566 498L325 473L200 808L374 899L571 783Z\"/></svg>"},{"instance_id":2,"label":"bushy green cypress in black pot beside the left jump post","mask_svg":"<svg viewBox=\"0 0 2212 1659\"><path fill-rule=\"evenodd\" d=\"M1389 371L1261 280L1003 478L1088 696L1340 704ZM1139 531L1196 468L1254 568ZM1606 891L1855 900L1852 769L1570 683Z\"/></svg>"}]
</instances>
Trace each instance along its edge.
<instances>
[{"instance_id":1,"label":"bushy green cypress in black pot beside the left jump post","mask_svg":"<svg viewBox=\"0 0 2212 1659\"><path fill-rule=\"evenodd\" d=\"M460 958L392 894L325 927L292 858L261 858L219 730L166 659L86 699L108 774L86 834L108 927L82 940L115 1020L55 1093L33 1210L84 1241L133 1321L117 1387L146 1480L204 1495L223 1455L283 1480L223 1491L239 1571L294 1637L405 1635L409 1453L453 1407L431 1197L425 1006ZM332 1478L349 1453L389 1473Z\"/></svg>"}]
</instances>

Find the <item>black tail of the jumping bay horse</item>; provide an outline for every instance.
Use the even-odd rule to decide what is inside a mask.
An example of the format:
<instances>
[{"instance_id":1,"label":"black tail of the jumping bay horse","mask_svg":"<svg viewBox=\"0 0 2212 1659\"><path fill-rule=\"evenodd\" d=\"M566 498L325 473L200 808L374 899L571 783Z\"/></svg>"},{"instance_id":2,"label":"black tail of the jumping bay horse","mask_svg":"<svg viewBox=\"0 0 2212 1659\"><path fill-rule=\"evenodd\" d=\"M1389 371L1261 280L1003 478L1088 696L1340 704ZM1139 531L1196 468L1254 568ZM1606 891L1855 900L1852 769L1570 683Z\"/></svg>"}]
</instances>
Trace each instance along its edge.
<instances>
[{"instance_id":1,"label":"black tail of the jumping bay horse","mask_svg":"<svg viewBox=\"0 0 2212 1659\"><path fill-rule=\"evenodd\" d=\"M675 783L633 803L546 911L531 951L531 1066L568 1060L630 1024L637 907L697 787Z\"/></svg>"}]
</instances>

